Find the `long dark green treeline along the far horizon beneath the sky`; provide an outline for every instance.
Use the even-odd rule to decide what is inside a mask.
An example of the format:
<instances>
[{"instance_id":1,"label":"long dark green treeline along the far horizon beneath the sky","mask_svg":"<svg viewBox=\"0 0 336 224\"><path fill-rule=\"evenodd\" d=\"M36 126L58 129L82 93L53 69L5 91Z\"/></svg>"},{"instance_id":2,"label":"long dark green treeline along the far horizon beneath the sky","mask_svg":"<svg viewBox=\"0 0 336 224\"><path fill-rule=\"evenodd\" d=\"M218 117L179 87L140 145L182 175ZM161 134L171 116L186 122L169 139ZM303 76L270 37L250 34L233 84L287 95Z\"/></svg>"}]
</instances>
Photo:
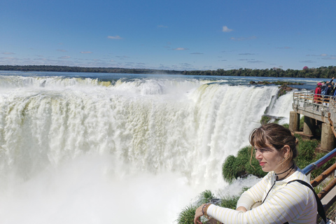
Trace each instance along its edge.
<instances>
[{"instance_id":1,"label":"long dark green treeline along the far horizon beneath the sky","mask_svg":"<svg viewBox=\"0 0 336 224\"><path fill-rule=\"evenodd\" d=\"M294 69L217 69L207 71L176 71L158 69L124 69L54 65L0 65L0 71L66 71L92 73L135 73L135 74L181 74L186 76L257 76L257 77L288 77L288 78L332 78L336 76L336 66L321 66L302 70Z\"/></svg>"}]
</instances>

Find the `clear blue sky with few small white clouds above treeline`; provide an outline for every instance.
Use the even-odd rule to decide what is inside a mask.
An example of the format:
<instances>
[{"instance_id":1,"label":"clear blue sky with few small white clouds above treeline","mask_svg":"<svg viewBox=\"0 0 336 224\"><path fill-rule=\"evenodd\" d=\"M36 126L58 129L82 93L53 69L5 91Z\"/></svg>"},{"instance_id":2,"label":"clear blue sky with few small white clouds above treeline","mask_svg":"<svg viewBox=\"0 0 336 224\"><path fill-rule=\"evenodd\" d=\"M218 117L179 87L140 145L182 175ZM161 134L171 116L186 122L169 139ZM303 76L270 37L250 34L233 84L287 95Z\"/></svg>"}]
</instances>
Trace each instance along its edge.
<instances>
[{"instance_id":1,"label":"clear blue sky with few small white clouds above treeline","mask_svg":"<svg viewBox=\"0 0 336 224\"><path fill-rule=\"evenodd\" d=\"M1 0L0 64L335 66L336 0Z\"/></svg>"}]
</instances>

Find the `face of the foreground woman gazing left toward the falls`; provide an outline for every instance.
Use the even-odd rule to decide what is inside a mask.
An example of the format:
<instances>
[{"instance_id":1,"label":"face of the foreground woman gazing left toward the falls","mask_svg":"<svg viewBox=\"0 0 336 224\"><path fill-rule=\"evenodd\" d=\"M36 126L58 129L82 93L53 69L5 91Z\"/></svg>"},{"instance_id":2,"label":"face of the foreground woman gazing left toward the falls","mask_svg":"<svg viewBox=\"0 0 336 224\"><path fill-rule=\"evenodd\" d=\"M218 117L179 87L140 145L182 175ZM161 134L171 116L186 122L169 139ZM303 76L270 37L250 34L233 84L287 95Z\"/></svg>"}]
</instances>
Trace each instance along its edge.
<instances>
[{"instance_id":1,"label":"face of the foreground woman gazing left toward the falls","mask_svg":"<svg viewBox=\"0 0 336 224\"><path fill-rule=\"evenodd\" d=\"M277 151L274 147L255 148L255 158L259 161L262 171L278 172L283 169L281 162L283 161L283 152Z\"/></svg>"}]
</instances>

